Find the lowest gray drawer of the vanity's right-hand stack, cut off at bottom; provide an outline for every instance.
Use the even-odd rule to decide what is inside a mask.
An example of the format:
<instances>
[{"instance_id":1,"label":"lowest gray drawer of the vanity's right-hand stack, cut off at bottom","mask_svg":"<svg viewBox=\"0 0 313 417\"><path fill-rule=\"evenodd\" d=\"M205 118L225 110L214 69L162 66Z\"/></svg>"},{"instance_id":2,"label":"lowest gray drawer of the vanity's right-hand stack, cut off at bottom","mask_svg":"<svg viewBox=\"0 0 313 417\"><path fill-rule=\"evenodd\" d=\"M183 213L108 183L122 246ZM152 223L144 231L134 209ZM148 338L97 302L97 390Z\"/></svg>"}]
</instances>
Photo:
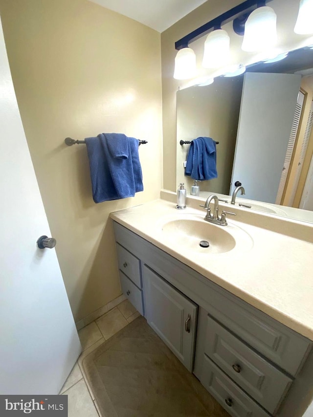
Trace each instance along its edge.
<instances>
[{"instance_id":1,"label":"lowest gray drawer of the vanity's right-hand stack, cut off at bottom","mask_svg":"<svg viewBox=\"0 0 313 417\"><path fill-rule=\"evenodd\" d=\"M203 358L201 384L234 417L269 417L253 399L244 393L206 355Z\"/></svg>"}]
</instances>

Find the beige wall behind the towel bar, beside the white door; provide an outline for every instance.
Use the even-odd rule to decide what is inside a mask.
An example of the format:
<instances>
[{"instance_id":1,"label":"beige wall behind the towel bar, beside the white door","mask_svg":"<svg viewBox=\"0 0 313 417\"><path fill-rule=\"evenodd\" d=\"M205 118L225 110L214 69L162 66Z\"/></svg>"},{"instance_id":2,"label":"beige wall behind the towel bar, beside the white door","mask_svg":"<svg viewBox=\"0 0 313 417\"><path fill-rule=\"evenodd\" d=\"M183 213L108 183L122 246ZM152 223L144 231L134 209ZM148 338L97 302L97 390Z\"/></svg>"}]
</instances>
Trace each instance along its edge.
<instances>
[{"instance_id":1,"label":"beige wall behind the towel bar, beside the white door","mask_svg":"<svg viewBox=\"0 0 313 417\"><path fill-rule=\"evenodd\" d=\"M159 197L160 34L87 0L0 0L0 14L24 130L77 321L121 293L110 212ZM64 139L100 132L149 141L139 148L144 192L135 198L93 202L86 147L67 147ZM21 201L21 215L22 206Z\"/></svg>"}]
</instances>

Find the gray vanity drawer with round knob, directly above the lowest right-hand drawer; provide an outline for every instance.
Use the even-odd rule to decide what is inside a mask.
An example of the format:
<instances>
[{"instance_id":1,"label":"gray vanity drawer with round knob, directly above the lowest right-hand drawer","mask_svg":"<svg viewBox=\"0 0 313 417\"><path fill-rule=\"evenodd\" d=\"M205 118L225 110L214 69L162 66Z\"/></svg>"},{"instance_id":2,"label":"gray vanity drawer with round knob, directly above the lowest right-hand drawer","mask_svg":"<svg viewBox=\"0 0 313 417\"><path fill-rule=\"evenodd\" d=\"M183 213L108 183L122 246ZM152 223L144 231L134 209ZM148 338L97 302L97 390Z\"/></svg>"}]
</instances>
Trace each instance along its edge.
<instances>
[{"instance_id":1,"label":"gray vanity drawer with round knob, directly above the lowest right-hand drawer","mask_svg":"<svg viewBox=\"0 0 313 417\"><path fill-rule=\"evenodd\" d=\"M291 385L289 376L269 364L210 316L207 316L204 352L274 414Z\"/></svg>"}]
</instances>

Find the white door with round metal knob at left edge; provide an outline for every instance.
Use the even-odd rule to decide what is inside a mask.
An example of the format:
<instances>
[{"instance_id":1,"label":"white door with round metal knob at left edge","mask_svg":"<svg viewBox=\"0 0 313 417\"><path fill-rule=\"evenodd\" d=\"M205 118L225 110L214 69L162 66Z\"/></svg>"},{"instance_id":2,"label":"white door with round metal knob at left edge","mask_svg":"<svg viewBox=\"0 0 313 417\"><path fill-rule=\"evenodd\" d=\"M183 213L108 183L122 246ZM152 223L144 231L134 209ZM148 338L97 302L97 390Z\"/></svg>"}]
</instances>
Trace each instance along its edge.
<instances>
[{"instance_id":1,"label":"white door with round metal knob at left edge","mask_svg":"<svg viewBox=\"0 0 313 417\"><path fill-rule=\"evenodd\" d=\"M58 394L81 351L0 25L0 394Z\"/></svg>"}]
</instances>

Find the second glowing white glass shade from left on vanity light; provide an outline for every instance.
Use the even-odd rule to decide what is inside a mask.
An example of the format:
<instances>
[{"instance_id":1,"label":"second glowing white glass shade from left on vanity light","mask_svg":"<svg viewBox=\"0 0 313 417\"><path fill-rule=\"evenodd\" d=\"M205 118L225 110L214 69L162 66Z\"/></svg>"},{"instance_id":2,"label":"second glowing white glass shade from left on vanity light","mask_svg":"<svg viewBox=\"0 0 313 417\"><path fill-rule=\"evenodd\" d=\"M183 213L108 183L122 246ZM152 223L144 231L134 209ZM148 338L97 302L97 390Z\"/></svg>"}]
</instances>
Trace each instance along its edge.
<instances>
[{"instance_id":1,"label":"second glowing white glass shade from left on vanity light","mask_svg":"<svg viewBox=\"0 0 313 417\"><path fill-rule=\"evenodd\" d=\"M209 33L204 42L202 66L204 68L218 68L229 60L229 36L223 29L216 29Z\"/></svg>"}]
</instances>

